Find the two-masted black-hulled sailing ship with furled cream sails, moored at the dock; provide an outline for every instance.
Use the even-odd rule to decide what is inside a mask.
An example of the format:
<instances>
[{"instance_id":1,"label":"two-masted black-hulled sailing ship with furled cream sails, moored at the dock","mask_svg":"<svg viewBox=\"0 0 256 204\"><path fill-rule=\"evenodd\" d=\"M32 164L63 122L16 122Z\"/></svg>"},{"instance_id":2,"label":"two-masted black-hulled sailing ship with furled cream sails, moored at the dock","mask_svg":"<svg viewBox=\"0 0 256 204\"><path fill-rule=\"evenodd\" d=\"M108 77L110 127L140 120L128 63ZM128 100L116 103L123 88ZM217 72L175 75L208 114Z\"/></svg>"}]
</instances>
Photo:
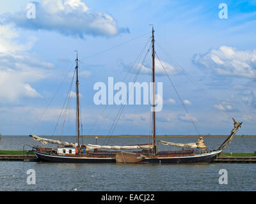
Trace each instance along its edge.
<instances>
[{"instance_id":1,"label":"two-masted black-hulled sailing ship with furled cream sails, moored at the dock","mask_svg":"<svg viewBox=\"0 0 256 204\"><path fill-rule=\"evenodd\" d=\"M153 111L152 124L153 134L152 143L138 145L92 145L81 144L80 142L80 110L79 110L79 74L78 74L78 55L76 57L76 124L77 124L77 143L61 142L59 140L51 140L36 135L29 135L35 141L46 143L54 143L58 145L57 149L33 146L36 157L40 161L63 162L63 163L179 163L189 164L210 163L227 147L228 143L236 135L241 128L243 122L234 121L234 128L227 139L216 149L207 150L204 138L200 136L195 143L172 143L163 140L157 141L156 136L156 98L155 98L155 48L154 48L154 27L152 27L152 82L153 82ZM150 45L151 46L151 45ZM182 147L182 150L164 150L159 151L157 144L172 145ZM185 148L185 150L184 150ZM200 152L195 152L200 149Z\"/></svg>"}]
</instances>

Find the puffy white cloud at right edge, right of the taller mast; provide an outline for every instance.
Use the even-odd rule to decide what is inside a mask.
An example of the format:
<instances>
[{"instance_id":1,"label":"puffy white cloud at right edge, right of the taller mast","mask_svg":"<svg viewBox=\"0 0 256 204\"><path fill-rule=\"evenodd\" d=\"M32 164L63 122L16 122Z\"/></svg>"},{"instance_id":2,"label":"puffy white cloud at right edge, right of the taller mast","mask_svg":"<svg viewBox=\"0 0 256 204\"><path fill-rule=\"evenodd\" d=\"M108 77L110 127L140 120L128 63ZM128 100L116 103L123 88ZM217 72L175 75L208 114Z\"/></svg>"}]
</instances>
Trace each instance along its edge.
<instances>
[{"instance_id":1,"label":"puffy white cloud at right edge, right of the taller mast","mask_svg":"<svg viewBox=\"0 0 256 204\"><path fill-rule=\"evenodd\" d=\"M202 55L196 54L193 62L213 69L218 75L256 78L256 50L221 46Z\"/></svg>"}]
</instances>

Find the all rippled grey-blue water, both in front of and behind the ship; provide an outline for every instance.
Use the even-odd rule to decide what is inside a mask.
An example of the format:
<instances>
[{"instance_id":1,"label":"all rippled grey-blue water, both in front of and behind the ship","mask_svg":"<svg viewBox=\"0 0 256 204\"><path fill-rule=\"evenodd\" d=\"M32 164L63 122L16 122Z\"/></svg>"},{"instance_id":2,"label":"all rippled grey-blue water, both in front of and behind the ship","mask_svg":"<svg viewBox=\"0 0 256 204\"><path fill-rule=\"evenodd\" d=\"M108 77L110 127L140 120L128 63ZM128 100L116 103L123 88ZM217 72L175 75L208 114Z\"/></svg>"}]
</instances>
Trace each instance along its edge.
<instances>
[{"instance_id":1,"label":"all rippled grey-blue water, both in front of and behind the ship","mask_svg":"<svg viewBox=\"0 0 256 204\"><path fill-rule=\"evenodd\" d=\"M163 138L161 138L163 139ZM164 138L195 142L197 138ZM67 141L72 137L67 136ZM99 138L97 143L104 143ZM209 148L225 138L205 138ZM106 141L105 141L106 142ZM145 143L148 138L111 138L110 144ZM28 136L2 136L0 149L22 150L36 143ZM86 143L95 143L87 138ZM234 138L225 152L253 152L256 138ZM28 148L29 149L29 148ZM27 184L27 170L36 172L36 184ZM228 184L219 184L219 171L228 172ZM69 164L0 161L0 191L256 191L256 164Z\"/></svg>"}]
</instances>

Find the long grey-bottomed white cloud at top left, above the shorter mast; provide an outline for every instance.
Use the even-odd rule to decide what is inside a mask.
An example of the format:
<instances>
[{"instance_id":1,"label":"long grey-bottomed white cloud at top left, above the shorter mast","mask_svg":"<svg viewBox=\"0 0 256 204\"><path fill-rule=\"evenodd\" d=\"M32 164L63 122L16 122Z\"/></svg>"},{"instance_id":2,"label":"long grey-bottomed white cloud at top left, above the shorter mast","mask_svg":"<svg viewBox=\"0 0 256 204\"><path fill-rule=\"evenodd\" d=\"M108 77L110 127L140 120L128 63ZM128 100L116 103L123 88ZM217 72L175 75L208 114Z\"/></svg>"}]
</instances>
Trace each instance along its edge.
<instances>
[{"instance_id":1,"label":"long grey-bottomed white cloud at top left, above the shorter mast","mask_svg":"<svg viewBox=\"0 0 256 204\"><path fill-rule=\"evenodd\" d=\"M116 20L108 13L93 11L81 0L43 0L33 3L36 6L36 18L26 17L26 11L4 13L2 24L15 24L17 27L31 30L57 31L66 36L84 38L92 36L115 36L129 32L119 28Z\"/></svg>"}]
</instances>

